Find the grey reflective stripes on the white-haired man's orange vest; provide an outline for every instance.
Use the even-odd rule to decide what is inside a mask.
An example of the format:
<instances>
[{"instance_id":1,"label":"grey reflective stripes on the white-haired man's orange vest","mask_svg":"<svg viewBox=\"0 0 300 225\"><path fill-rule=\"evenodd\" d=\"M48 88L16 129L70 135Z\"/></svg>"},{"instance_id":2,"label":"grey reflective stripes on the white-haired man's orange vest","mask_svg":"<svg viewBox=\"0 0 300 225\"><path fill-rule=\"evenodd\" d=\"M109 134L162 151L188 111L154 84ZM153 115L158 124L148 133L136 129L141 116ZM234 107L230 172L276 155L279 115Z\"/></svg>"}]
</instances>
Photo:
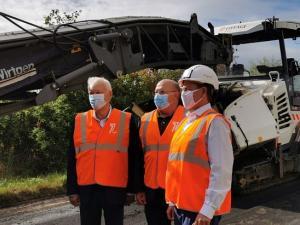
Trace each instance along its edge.
<instances>
[{"instance_id":1,"label":"grey reflective stripes on the white-haired man's orange vest","mask_svg":"<svg viewBox=\"0 0 300 225\"><path fill-rule=\"evenodd\" d=\"M119 129L119 134L117 138L117 143L116 144L109 144L109 143L104 143L104 144L93 144L93 143L86 143L87 139L87 132L86 132L86 119L87 119L87 112L82 113L80 118L80 129L81 129L81 140L82 143L79 147L75 147L76 154L87 151L90 149L96 150L96 151L101 151L101 150L117 150L120 152L127 152L127 148L122 146L122 140L124 138L124 126L125 126L125 120L126 120L126 114L121 113L121 118L120 118L120 129Z\"/></svg>"}]
</instances>

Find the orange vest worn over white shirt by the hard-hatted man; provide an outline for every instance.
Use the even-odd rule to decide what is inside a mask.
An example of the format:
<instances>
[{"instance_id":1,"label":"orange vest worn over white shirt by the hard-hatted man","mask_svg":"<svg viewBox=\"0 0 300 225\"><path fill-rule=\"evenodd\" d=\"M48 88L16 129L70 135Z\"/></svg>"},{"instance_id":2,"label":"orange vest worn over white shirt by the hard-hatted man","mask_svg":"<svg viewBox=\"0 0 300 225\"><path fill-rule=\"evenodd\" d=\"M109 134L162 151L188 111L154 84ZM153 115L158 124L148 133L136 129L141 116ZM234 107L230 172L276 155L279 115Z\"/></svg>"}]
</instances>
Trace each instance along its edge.
<instances>
[{"instance_id":1,"label":"orange vest worn over white shirt by the hard-hatted man","mask_svg":"<svg viewBox=\"0 0 300 225\"><path fill-rule=\"evenodd\" d=\"M209 109L184 130L188 121L185 119L173 136L166 173L166 201L179 209L199 212L204 204L210 177L206 138L216 117L224 118ZM229 213L230 209L231 191L215 215Z\"/></svg>"}]
</instances>

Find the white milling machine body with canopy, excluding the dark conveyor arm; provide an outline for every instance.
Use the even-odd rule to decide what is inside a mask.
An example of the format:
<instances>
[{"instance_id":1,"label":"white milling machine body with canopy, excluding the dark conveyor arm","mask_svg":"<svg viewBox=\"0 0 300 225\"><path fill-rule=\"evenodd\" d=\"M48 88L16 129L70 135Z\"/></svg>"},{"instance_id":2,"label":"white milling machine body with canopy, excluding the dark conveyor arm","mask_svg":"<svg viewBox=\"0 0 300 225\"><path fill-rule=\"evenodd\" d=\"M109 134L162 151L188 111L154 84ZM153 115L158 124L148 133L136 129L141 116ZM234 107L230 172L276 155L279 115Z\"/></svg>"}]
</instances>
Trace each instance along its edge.
<instances>
[{"instance_id":1,"label":"white milling machine body with canopy, excluding the dark conveyor arm","mask_svg":"<svg viewBox=\"0 0 300 225\"><path fill-rule=\"evenodd\" d=\"M294 58L287 58L285 42L292 48L290 39L300 36L300 23L273 17L216 27L213 32L231 35L234 49L248 45L258 59L262 44L272 42L281 58L280 65L257 65L259 74L250 74L236 63L224 69L227 73L222 71L218 103L232 125L234 187L249 192L297 177L300 68Z\"/></svg>"}]
</instances>

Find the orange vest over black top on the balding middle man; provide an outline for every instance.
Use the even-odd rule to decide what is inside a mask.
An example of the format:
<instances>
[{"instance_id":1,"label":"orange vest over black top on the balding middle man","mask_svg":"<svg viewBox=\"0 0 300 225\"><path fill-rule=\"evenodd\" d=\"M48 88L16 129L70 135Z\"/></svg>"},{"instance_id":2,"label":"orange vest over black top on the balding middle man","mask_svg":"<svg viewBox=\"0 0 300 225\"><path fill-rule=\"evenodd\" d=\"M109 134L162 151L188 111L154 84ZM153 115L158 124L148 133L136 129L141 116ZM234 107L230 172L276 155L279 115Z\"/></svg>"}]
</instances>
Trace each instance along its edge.
<instances>
[{"instance_id":1,"label":"orange vest over black top on the balding middle man","mask_svg":"<svg viewBox=\"0 0 300 225\"><path fill-rule=\"evenodd\" d=\"M141 119L140 138L144 150L144 183L152 189L165 188L170 143L174 132L184 118L184 108L178 106L165 131L159 132L157 110L146 113Z\"/></svg>"}]
</instances>

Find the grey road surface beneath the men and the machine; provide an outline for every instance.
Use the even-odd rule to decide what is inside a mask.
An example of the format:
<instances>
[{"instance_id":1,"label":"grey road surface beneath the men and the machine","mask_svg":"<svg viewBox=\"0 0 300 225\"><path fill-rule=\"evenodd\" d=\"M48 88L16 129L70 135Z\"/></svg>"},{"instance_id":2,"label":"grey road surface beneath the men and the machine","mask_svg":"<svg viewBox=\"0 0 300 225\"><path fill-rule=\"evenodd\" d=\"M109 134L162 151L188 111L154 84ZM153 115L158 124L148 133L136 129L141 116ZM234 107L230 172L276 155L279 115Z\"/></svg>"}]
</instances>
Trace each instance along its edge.
<instances>
[{"instance_id":1,"label":"grey road surface beneath the men and the machine","mask_svg":"<svg viewBox=\"0 0 300 225\"><path fill-rule=\"evenodd\" d=\"M66 198L0 210L0 225L79 225L79 210ZM102 223L102 225L104 222ZM300 225L300 180L234 198L221 225ZM143 208L125 208L124 225L146 225Z\"/></svg>"}]
</instances>

